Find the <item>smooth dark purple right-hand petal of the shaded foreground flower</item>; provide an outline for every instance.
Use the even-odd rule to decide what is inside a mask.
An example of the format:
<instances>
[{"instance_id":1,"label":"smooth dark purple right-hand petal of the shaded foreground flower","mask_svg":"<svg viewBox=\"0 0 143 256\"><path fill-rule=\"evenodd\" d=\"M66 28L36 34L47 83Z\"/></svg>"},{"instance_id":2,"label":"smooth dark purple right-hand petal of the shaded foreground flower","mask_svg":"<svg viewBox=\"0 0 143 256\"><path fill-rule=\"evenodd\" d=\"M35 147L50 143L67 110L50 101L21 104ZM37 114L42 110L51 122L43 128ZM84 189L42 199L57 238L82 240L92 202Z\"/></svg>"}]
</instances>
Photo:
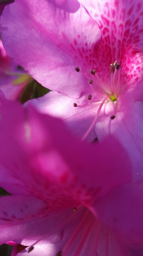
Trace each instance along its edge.
<instances>
[{"instance_id":1,"label":"smooth dark purple right-hand petal of the shaded foreground flower","mask_svg":"<svg viewBox=\"0 0 143 256\"><path fill-rule=\"evenodd\" d=\"M95 202L95 212L131 249L143 248L143 181L112 189Z\"/></svg>"}]
</instances>

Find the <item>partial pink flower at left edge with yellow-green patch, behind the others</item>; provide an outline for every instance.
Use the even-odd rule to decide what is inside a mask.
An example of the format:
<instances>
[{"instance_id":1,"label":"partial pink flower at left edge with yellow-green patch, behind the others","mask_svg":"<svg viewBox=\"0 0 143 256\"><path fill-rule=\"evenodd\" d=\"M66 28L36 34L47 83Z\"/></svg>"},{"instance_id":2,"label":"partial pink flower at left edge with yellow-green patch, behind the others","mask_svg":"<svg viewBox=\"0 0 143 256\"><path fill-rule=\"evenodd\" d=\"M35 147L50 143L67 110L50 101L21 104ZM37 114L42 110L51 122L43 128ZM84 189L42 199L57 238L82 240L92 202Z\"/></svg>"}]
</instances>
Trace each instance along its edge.
<instances>
[{"instance_id":1,"label":"partial pink flower at left edge with yellow-green patch, behind the others","mask_svg":"<svg viewBox=\"0 0 143 256\"><path fill-rule=\"evenodd\" d=\"M7 99L16 100L29 80L30 76L18 70L18 65L6 55L0 40L0 90Z\"/></svg>"}]
</instances>

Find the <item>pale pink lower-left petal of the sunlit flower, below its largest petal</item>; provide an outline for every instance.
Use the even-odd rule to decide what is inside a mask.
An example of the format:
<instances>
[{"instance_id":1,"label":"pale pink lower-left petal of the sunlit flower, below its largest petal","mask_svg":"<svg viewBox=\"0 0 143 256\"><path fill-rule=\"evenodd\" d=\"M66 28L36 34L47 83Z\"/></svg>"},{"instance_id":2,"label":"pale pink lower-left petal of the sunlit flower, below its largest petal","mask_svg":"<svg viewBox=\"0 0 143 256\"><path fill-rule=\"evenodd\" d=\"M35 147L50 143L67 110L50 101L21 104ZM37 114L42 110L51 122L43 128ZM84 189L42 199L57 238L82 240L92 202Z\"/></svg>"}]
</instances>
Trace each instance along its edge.
<instances>
[{"instance_id":1,"label":"pale pink lower-left petal of the sunlit flower, below its largest petal","mask_svg":"<svg viewBox=\"0 0 143 256\"><path fill-rule=\"evenodd\" d=\"M65 121L69 130L81 139L95 117L96 108L95 104L91 104L84 108L75 108L74 101L75 99L63 94L49 92L43 97L26 102L25 105L27 106L27 104L30 104L41 113L61 118ZM88 105L89 101L87 97L83 96L76 100L76 103L78 105ZM93 127L92 132L88 136L88 141L92 142L95 137L96 135Z\"/></svg>"}]
</instances>

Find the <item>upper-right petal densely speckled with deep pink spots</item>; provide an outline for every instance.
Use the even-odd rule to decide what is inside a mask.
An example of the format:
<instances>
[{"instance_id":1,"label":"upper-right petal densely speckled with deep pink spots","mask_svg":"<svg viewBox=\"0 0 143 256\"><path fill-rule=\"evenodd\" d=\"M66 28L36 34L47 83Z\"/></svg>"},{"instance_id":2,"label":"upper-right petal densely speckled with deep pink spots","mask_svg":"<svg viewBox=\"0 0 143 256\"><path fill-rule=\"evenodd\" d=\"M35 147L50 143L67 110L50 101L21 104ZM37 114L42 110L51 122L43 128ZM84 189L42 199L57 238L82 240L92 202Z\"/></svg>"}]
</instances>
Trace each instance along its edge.
<instances>
[{"instance_id":1,"label":"upper-right petal densely speckled with deep pink spots","mask_svg":"<svg viewBox=\"0 0 143 256\"><path fill-rule=\"evenodd\" d=\"M102 31L100 47L95 49L93 65L110 86L110 64L121 67L120 86L142 79L143 2L141 0L80 0Z\"/></svg>"}]
</instances>

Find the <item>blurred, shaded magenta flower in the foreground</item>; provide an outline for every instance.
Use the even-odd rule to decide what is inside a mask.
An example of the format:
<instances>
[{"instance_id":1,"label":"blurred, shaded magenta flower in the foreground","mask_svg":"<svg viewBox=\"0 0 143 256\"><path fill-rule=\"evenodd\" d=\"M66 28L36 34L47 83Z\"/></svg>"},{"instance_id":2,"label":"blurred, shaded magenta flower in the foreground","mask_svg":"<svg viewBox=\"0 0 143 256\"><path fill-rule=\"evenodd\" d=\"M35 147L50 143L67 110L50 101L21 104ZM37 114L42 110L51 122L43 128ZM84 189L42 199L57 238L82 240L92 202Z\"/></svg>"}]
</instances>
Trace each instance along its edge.
<instances>
[{"instance_id":1,"label":"blurred, shaded magenta flower in the foreground","mask_svg":"<svg viewBox=\"0 0 143 256\"><path fill-rule=\"evenodd\" d=\"M109 137L101 144L80 142L61 120L3 98L0 117L0 186L12 194L0 198L0 243L28 246L18 255L130 255L126 243L131 238L126 241L124 233L132 221L119 234L109 230L113 211L107 228L102 224L104 195L113 189L112 198L114 188L122 189L131 178L130 162L118 141ZM131 213L124 197L119 207L134 216L138 208L133 206L141 206L137 197L138 190ZM109 206L107 213L112 202ZM124 215L117 217L117 222L125 221ZM138 216L136 226L138 248L143 232Z\"/></svg>"}]
</instances>

